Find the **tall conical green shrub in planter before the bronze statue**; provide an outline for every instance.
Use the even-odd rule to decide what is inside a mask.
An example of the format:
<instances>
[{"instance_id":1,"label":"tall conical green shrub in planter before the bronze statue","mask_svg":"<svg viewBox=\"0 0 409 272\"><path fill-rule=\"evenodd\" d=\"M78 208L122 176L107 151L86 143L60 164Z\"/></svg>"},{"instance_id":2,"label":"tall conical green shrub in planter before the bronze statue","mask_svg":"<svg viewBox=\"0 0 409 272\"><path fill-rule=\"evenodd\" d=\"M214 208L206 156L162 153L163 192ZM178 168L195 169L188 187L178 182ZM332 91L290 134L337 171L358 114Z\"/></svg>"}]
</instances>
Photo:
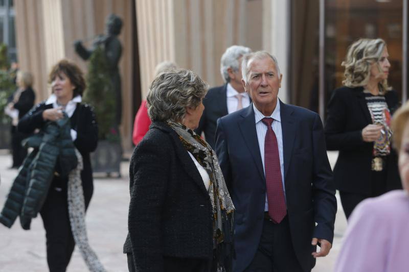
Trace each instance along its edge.
<instances>
[{"instance_id":1,"label":"tall conical green shrub in planter before the bronze statue","mask_svg":"<svg viewBox=\"0 0 409 272\"><path fill-rule=\"evenodd\" d=\"M98 120L99 138L119 141L119 132L115 128L115 93L102 46L97 47L89 58L86 84L83 101L94 106Z\"/></svg>"}]
</instances>

